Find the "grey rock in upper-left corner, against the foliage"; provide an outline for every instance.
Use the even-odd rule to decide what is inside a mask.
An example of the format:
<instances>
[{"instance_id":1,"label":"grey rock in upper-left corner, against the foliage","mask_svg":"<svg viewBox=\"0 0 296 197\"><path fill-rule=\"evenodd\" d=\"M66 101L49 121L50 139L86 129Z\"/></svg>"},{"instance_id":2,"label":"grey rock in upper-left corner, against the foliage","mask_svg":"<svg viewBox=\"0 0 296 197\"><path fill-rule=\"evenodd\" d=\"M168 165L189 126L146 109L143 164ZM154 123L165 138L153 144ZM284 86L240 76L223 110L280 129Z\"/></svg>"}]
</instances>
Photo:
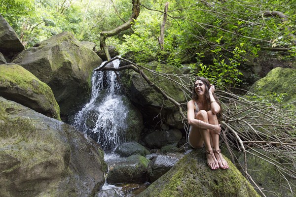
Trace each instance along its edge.
<instances>
[{"instance_id":1,"label":"grey rock in upper-left corner, against the foliage","mask_svg":"<svg viewBox=\"0 0 296 197\"><path fill-rule=\"evenodd\" d=\"M25 47L15 31L2 15L0 15L0 52L8 58L12 58L15 54L24 49Z\"/></svg>"}]
</instances>

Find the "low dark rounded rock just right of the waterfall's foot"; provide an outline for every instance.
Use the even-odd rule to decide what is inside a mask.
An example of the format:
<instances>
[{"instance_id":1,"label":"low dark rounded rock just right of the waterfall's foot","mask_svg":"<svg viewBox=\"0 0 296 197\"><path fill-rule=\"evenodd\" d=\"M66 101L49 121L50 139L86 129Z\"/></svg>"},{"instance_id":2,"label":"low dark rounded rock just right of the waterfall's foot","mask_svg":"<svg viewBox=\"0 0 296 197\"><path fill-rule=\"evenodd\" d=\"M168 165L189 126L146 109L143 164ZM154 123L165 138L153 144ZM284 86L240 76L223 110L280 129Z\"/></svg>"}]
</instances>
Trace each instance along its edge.
<instances>
[{"instance_id":1,"label":"low dark rounded rock just right of the waterfall's foot","mask_svg":"<svg viewBox=\"0 0 296 197\"><path fill-rule=\"evenodd\" d=\"M120 144L116 147L114 153L120 157L129 157L131 155L142 155L145 157L146 155L150 154L150 152L144 146L137 142L127 142Z\"/></svg>"}]
</instances>

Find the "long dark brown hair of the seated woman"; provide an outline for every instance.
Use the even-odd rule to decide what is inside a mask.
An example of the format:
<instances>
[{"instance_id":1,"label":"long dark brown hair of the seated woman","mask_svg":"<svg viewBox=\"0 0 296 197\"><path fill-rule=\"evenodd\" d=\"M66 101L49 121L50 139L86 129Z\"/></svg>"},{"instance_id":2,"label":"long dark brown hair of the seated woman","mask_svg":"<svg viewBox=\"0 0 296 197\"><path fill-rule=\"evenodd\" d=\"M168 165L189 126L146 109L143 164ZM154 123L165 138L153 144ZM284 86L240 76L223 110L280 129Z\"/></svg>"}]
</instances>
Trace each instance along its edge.
<instances>
[{"instance_id":1,"label":"long dark brown hair of the seated woman","mask_svg":"<svg viewBox=\"0 0 296 197\"><path fill-rule=\"evenodd\" d=\"M204 77L197 77L195 79L195 81L193 83L193 88L192 88L192 100L197 101L197 99L198 99L198 95L195 92L195 82L197 80L202 81L203 84L206 86L206 88L205 88L205 97L206 97L206 100L208 102L208 106L211 106L211 100L210 100L210 95L209 95L209 89L211 87L211 84L208 81L208 79L206 79ZM220 112L217 114L218 121L220 122L222 120L222 106L221 106L221 102L218 99L218 97L215 95L215 93L213 93L213 96L214 96L214 99L216 100L216 102L219 104L219 106L221 108Z\"/></svg>"}]
</instances>

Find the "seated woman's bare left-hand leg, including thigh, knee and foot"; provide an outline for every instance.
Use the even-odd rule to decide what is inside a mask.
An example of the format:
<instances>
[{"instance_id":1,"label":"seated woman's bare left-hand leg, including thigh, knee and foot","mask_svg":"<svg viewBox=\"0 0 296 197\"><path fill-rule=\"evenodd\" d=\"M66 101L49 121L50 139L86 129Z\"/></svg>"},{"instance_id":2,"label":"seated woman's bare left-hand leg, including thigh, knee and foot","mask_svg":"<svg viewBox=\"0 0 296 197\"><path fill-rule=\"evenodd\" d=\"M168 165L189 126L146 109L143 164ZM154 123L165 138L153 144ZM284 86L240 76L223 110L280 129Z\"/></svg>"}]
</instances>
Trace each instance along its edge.
<instances>
[{"instance_id":1,"label":"seated woman's bare left-hand leg, including thigh, knee and foot","mask_svg":"<svg viewBox=\"0 0 296 197\"><path fill-rule=\"evenodd\" d=\"M208 114L205 110L200 110L195 119L204 121L208 123ZM218 161L215 159L215 155L212 151L211 146L211 136L210 131L207 129L196 128L191 126L191 131L189 132L189 143L193 148L201 148L203 147L203 143L205 144L205 148L207 151L207 163L211 169L219 168Z\"/></svg>"}]
</instances>

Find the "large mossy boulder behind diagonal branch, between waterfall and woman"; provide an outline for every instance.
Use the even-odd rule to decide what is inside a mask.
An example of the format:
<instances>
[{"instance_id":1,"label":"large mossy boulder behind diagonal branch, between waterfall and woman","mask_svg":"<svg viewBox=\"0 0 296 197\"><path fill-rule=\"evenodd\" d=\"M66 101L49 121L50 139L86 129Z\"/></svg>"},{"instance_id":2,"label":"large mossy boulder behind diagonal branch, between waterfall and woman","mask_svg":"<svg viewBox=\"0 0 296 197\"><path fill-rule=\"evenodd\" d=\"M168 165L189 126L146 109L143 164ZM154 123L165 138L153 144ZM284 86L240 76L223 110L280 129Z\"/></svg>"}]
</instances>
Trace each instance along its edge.
<instances>
[{"instance_id":1,"label":"large mossy boulder behind diagonal branch, between waterfall and woman","mask_svg":"<svg viewBox=\"0 0 296 197\"><path fill-rule=\"evenodd\" d=\"M180 89L176 83L171 81L177 80L177 78L173 76L172 73L180 74L180 70L178 68L174 66L161 65L157 62L141 64L141 66L151 70L161 68L162 72L170 73L170 79L168 79L157 74L152 74L151 72L143 69L152 83L162 89L167 94L167 96L174 98L179 103L186 102L186 98L182 89ZM167 117L171 114L174 114L175 112L179 113L178 107L176 107L168 99L164 98L153 87L151 87L151 85L148 85L140 73L133 70L122 72L122 84L127 92L128 98L139 109L141 109L145 122L148 124L150 124L149 121L151 120L154 120L154 123L159 122L159 114L161 113L161 117L165 117L164 120L162 120L164 121L164 124L171 126L173 123L174 125L172 126L176 127L176 122L168 121ZM178 115L175 116L177 117ZM152 123L152 125L154 123Z\"/></svg>"}]
</instances>

